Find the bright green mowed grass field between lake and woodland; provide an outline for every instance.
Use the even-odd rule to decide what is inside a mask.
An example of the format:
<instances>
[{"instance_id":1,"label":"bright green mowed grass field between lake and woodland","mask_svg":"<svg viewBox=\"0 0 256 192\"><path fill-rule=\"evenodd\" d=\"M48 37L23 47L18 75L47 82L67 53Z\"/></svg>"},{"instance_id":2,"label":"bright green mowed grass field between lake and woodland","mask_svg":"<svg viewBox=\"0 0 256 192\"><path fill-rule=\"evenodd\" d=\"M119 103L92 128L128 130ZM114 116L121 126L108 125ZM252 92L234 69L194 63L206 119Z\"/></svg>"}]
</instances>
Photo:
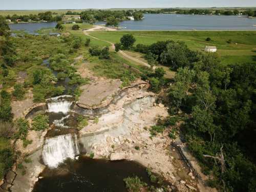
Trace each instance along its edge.
<instances>
[{"instance_id":1,"label":"bright green mowed grass field between lake and woodland","mask_svg":"<svg viewBox=\"0 0 256 192\"><path fill-rule=\"evenodd\" d=\"M91 36L119 42L123 34L133 34L136 44L151 45L160 40L181 40L192 50L203 51L205 46L216 46L223 63L255 62L256 31L102 31ZM211 38L208 42L205 39ZM232 43L228 44L231 39ZM100 46L100 44L99 44Z\"/></svg>"}]
</instances>

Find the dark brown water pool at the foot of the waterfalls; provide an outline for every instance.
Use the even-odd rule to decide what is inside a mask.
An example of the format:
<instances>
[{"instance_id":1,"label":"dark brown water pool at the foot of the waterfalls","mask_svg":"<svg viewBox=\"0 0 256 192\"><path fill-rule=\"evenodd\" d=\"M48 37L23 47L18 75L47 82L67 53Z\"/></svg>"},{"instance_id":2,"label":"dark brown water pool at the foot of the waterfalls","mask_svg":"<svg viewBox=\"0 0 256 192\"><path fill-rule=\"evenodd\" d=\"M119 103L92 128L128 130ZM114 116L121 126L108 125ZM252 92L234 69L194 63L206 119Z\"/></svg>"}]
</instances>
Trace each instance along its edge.
<instances>
[{"instance_id":1,"label":"dark brown water pool at the foot of the waterfalls","mask_svg":"<svg viewBox=\"0 0 256 192\"><path fill-rule=\"evenodd\" d=\"M145 167L133 161L106 161L80 158L68 161L55 169L45 169L33 192L109 192L127 191L123 179L139 176L144 182L153 185L148 179Z\"/></svg>"}]
</instances>

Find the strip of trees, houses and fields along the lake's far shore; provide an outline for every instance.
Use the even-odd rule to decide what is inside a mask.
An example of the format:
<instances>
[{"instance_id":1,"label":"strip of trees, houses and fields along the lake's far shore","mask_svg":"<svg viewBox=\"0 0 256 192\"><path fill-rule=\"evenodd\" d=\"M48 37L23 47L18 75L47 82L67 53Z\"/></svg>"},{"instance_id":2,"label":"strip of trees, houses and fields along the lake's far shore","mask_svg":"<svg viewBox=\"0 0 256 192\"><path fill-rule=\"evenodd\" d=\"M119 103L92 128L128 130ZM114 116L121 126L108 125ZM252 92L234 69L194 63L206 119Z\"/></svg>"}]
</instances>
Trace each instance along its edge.
<instances>
[{"instance_id":1,"label":"strip of trees, houses and fields along the lake's far shore","mask_svg":"<svg viewBox=\"0 0 256 192\"><path fill-rule=\"evenodd\" d=\"M87 22L94 24L97 21L105 21L107 26L118 26L123 20L141 20L144 14L191 14L191 15L238 15L248 18L256 17L256 8L229 8L229 9L124 9L124 10L49 10L41 11L7 11L0 10L0 15L7 19L8 23L32 23L32 22ZM19 13L19 15L17 14Z\"/></svg>"}]
</instances>

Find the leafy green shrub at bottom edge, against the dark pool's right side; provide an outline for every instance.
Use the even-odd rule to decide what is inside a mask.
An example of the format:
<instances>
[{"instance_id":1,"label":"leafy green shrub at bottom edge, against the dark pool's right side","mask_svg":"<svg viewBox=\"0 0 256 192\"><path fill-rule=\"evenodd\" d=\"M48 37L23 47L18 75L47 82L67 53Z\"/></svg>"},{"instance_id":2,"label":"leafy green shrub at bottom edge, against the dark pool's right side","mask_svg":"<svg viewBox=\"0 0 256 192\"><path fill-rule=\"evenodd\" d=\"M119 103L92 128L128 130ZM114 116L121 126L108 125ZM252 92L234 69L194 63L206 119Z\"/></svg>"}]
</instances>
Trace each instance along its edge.
<instances>
[{"instance_id":1,"label":"leafy green shrub at bottom edge, against the dark pool's right side","mask_svg":"<svg viewBox=\"0 0 256 192\"><path fill-rule=\"evenodd\" d=\"M147 186L146 183L142 182L138 176L127 177L123 179L126 188L131 192L140 192L141 189Z\"/></svg>"}]
</instances>

